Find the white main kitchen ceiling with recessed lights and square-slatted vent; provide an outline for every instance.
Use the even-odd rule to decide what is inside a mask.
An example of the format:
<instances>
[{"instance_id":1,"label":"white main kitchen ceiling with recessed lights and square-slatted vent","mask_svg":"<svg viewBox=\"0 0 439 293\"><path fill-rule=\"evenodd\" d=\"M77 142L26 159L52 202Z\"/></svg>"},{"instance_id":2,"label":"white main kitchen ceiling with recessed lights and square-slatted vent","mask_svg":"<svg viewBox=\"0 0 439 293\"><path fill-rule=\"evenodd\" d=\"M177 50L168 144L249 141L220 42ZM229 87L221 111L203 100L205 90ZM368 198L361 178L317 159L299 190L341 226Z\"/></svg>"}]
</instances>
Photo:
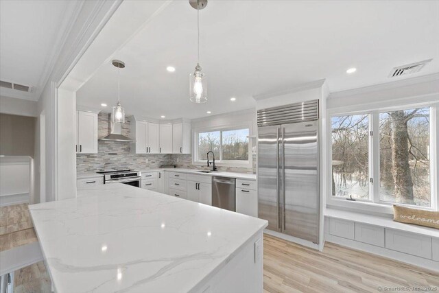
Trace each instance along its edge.
<instances>
[{"instance_id":1,"label":"white main kitchen ceiling with recessed lights and square-slatted vent","mask_svg":"<svg viewBox=\"0 0 439 293\"><path fill-rule=\"evenodd\" d=\"M77 104L115 104L111 58L126 62L126 113L158 119L252 108L253 95L321 79L336 92L439 72L439 1L209 1L200 11L209 100L193 104L196 25L187 1L171 2L95 71L77 92ZM388 78L393 67L429 58L419 73ZM174 73L166 71L169 65ZM357 72L348 75L351 67Z\"/></svg>"}]
</instances>

